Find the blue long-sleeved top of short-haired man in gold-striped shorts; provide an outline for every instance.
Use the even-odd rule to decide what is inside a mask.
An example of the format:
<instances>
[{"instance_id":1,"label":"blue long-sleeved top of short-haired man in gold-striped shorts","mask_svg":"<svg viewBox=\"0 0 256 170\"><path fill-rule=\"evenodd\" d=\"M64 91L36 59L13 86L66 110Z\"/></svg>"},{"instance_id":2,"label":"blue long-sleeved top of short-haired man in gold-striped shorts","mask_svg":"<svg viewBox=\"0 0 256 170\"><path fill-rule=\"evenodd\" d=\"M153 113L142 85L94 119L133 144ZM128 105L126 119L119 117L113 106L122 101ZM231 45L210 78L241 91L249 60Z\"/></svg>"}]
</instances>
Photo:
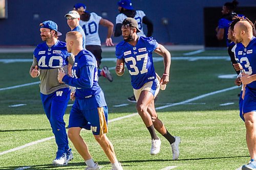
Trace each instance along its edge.
<instances>
[{"instance_id":1,"label":"blue long-sleeved top of short-haired man in gold-striped shorts","mask_svg":"<svg viewBox=\"0 0 256 170\"><path fill-rule=\"evenodd\" d=\"M87 50L82 50L75 56L72 77L66 75L62 81L76 87L75 96L78 99L90 98L101 91L96 58Z\"/></svg>"}]
</instances>

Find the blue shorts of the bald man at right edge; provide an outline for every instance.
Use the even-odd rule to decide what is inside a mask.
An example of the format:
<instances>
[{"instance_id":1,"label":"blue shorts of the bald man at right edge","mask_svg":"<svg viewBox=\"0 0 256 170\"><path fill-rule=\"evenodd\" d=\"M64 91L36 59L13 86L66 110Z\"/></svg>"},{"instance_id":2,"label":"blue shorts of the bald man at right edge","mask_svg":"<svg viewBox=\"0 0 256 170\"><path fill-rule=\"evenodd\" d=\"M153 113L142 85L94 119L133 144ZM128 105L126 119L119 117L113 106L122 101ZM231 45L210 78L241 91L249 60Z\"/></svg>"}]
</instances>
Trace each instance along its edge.
<instances>
[{"instance_id":1,"label":"blue shorts of the bald man at right edge","mask_svg":"<svg viewBox=\"0 0 256 170\"><path fill-rule=\"evenodd\" d=\"M245 96L243 101L243 113L256 111L256 90L245 87Z\"/></svg>"}]
</instances>

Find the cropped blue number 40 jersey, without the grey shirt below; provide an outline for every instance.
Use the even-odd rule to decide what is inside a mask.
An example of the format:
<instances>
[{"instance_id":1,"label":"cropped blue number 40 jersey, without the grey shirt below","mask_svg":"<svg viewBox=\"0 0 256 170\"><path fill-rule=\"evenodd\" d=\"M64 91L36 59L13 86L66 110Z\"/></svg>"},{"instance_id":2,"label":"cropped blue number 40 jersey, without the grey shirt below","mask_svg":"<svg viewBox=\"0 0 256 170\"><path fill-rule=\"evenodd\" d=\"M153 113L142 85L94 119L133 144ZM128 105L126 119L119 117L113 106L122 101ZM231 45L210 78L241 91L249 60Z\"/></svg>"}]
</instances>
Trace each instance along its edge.
<instances>
[{"instance_id":1,"label":"cropped blue number 40 jersey, without the grey shirt below","mask_svg":"<svg viewBox=\"0 0 256 170\"><path fill-rule=\"evenodd\" d=\"M37 45L34 56L40 69L53 69L68 65L70 53L67 51L66 43L58 40L51 47L46 42Z\"/></svg>"}]
</instances>

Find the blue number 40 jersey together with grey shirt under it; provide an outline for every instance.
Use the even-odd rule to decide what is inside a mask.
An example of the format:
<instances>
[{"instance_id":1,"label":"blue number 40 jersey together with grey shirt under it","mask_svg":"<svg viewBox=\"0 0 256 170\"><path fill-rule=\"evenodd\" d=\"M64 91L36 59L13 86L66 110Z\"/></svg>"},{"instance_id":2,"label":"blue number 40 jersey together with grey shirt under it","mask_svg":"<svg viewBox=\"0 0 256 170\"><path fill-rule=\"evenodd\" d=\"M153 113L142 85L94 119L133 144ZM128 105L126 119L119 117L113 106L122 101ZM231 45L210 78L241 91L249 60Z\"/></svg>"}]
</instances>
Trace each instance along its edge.
<instances>
[{"instance_id":1,"label":"blue number 40 jersey together with grey shirt under it","mask_svg":"<svg viewBox=\"0 0 256 170\"><path fill-rule=\"evenodd\" d=\"M32 66L39 67L40 92L42 94L51 94L52 92L69 87L65 83L59 83L57 80L58 69L62 69L68 74L68 64L74 63L74 57L68 53L66 43L57 41L49 47L46 42L37 45L34 50L34 60Z\"/></svg>"}]
</instances>

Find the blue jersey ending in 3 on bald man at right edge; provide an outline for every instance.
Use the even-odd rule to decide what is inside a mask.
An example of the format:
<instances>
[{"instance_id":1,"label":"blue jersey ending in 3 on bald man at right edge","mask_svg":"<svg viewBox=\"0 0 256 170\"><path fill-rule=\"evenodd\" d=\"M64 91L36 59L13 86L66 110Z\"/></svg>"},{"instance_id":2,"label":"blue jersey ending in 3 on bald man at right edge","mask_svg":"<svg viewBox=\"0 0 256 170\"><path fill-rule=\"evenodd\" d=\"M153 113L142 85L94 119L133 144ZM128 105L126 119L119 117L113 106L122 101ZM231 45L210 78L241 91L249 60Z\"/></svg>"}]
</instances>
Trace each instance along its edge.
<instances>
[{"instance_id":1,"label":"blue jersey ending in 3 on bald man at right edge","mask_svg":"<svg viewBox=\"0 0 256 170\"><path fill-rule=\"evenodd\" d=\"M236 47L236 57L243 66L245 74L256 74L256 38L253 37L249 44L244 47L242 43L238 43ZM246 87L256 90L256 81L247 84Z\"/></svg>"}]
</instances>

